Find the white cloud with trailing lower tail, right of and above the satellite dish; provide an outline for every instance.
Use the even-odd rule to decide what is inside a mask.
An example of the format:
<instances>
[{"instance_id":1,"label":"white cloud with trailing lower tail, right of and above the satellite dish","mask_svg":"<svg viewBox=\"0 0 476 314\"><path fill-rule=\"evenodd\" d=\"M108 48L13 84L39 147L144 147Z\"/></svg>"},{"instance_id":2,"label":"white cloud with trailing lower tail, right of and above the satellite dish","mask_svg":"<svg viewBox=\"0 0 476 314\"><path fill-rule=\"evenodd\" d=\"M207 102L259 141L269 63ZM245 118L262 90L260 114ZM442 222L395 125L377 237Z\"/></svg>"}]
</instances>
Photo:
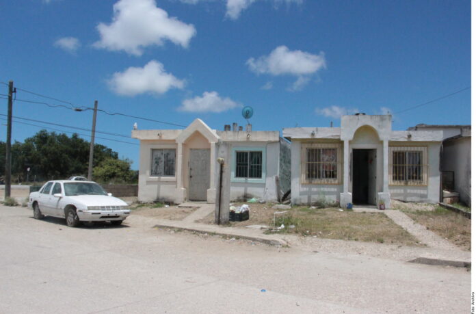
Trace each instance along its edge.
<instances>
[{"instance_id":1,"label":"white cloud with trailing lower tail, right of and above the satellite dish","mask_svg":"<svg viewBox=\"0 0 476 314\"><path fill-rule=\"evenodd\" d=\"M321 51L319 55L300 50L291 51L286 46L276 47L269 55L262 55L246 61L248 68L260 75L293 75L297 81L289 90L300 90L310 80L310 76L322 68L326 68L326 57Z\"/></svg>"}]
</instances>

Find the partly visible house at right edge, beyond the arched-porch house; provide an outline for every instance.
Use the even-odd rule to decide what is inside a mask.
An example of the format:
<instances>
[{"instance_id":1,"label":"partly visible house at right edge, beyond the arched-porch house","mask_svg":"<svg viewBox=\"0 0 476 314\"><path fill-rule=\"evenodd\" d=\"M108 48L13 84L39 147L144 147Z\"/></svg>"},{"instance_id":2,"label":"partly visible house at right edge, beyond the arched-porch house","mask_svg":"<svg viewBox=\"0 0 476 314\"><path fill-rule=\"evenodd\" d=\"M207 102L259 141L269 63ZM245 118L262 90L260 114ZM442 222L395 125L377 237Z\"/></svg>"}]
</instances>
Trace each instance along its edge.
<instances>
[{"instance_id":1,"label":"partly visible house at right edge, beyond the arched-porch house","mask_svg":"<svg viewBox=\"0 0 476 314\"><path fill-rule=\"evenodd\" d=\"M442 200L471 207L471 125L416 125L409 131L442 131Z\"/></svg>"}]
</instances>

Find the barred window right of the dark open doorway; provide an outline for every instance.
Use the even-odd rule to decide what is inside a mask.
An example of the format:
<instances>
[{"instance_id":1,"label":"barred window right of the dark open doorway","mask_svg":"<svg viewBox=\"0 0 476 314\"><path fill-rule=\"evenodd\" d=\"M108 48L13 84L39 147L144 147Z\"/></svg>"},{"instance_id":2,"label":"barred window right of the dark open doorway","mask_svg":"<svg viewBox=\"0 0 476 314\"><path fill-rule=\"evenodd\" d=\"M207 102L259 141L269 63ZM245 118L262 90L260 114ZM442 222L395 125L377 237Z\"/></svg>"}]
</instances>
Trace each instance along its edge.
<instances>
[{"instance_id":1,"label":"barred window right of the dark open doorway","mask_svg":"<svg viewBox=\"0 0 476 314\"><path fill-rule=\"evenodd\" d=\"M390 151L390 184L426 185L425 147L391 147Z\"/></svg>"}]
</instances>

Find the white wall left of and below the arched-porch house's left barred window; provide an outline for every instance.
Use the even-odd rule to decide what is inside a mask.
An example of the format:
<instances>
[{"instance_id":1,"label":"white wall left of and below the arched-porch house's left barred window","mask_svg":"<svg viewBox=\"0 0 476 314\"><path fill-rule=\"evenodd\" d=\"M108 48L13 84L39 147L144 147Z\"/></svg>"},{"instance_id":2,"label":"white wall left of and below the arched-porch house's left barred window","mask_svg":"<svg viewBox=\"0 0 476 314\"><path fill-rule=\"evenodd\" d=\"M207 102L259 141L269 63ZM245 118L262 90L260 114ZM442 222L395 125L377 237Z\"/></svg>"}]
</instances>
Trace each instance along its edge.
<instances>
[{"instance_id":1,"label":"white wall left of and below the arched-porch house's left barred window","mask_svg":"<svg viewBox=\"0 0 476 314\"><path fill-rule=\"evenodd\" d=\"M294 205L311 204L326 199L328 202L339 201L343 186L301 184L301 142L291 142L291 203Z\"/></svg>"}]
</instances>

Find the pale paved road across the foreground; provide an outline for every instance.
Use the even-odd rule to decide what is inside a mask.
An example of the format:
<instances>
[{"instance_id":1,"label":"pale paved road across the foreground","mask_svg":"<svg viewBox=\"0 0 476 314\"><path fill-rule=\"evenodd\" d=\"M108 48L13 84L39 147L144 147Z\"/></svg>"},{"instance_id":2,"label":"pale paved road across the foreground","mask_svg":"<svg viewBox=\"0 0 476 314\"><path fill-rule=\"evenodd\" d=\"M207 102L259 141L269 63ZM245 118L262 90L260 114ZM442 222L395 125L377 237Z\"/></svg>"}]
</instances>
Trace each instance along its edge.
<instances>
[{"instance_id":1,"label":"pale paved road across the foreground","mask_svg":"<svg viewBox=\"0 0 476 314\"><path fill-rule=\"evenodd\" d=\"M467 313L470 273L0 206L0 313ZM265 292L261 292L265 289Z\"/></svg>"}]
</instances>

